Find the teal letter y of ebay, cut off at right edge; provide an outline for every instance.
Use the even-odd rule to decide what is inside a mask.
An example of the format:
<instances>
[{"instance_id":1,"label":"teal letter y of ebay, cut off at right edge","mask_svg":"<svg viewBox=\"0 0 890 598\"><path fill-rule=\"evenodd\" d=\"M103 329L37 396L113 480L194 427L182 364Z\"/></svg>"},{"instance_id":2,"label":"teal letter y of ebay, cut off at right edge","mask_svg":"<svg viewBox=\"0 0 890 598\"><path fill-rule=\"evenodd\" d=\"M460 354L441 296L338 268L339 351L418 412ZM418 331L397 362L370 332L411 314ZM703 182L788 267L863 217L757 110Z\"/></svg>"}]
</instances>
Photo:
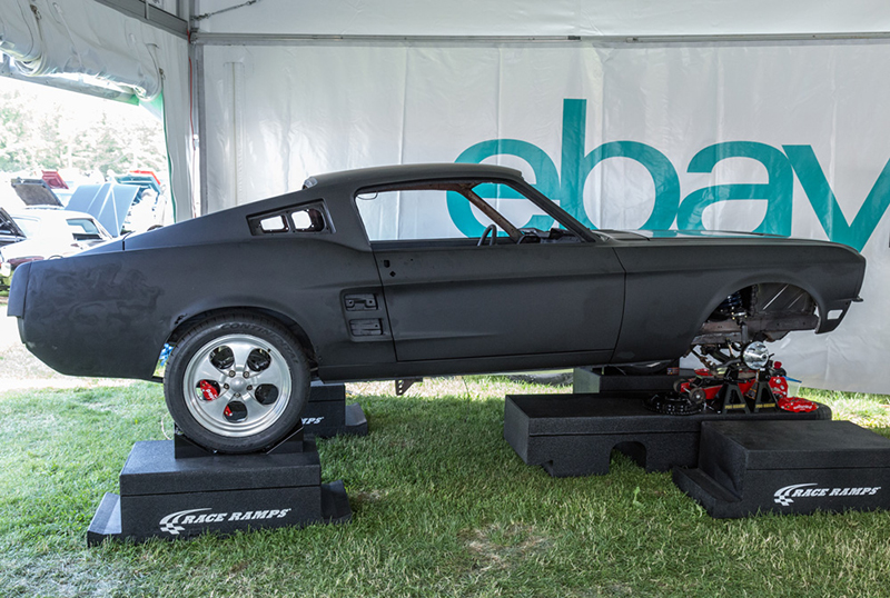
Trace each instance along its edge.
<instances>
[{"instance_id":1,"label":"teal letter y of ebay, cut off at right edge","mask_svg":"<svg viewBox=\"0 0 890 598\"><path fill-rule=\"evenodd\" d=\"M884 165L874 187L869 191L866 201L848 223L843 217L834 192L831 190L819 160L815 159L813 148L810 146L782 146L798 175L807 199L813 207L819 223L832 241L849 245L857 251L862 251L878 222L890 206L890 161Z\"/></svg>"}]
</instances>

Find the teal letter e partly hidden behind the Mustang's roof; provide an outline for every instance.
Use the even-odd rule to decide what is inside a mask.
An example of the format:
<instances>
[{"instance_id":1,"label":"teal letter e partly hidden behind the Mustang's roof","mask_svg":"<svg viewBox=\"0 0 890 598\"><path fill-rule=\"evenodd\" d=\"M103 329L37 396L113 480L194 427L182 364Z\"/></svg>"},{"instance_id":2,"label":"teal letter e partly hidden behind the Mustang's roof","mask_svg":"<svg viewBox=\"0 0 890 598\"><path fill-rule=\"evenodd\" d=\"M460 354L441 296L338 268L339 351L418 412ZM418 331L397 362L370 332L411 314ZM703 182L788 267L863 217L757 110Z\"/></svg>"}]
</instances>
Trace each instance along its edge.
<instances>
[{"instance_id":1,"label":"teal letter e partly hidden behind the Mustang's roof","mask_svg":"<svg viewBox=\"0 0 890 598\"><path fill-rule=\"evenodd\" d=\"M555 199L555 195L560 189L560 178L556 173L556 167L544 150L527 141L520 141L517 139L492 139L491 141L482 141L464 150L455 162L477 165L486 158L501 155L517 156L528 162L535 173L534 188L548 198ZM483 190L477 190L477 192L478 191ZM448 191L447 197L448 213L457 229L467 237L481 237L485 227L473 216L473 210L466 198L455 191ZM485 196L479 195L479 197L484 198ZM517 195L516 197L520 196ZM553 227L553 218L543 215L533 216L527 223L520 228L526 227L550 230Z\"/></svg>"}]
</instances>

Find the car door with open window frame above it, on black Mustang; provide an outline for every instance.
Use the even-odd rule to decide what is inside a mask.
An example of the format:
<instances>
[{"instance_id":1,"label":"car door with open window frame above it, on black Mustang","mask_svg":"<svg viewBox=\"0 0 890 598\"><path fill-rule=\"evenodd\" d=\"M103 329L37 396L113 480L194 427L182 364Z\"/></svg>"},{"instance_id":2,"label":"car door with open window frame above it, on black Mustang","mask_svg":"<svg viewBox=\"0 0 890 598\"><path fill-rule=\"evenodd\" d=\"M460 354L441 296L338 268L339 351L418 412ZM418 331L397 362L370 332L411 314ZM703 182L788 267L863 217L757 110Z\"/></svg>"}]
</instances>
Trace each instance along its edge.
<instances>
[{"instance_id":1,"label":"car door with open window frame above it, on black Mustang","mask_svg":"<svg viewBox=\"0 0 890 598\"><path fill-rule=\"evenodd\" d=\"M356 207L398 361L611 357L624 300L614 250L521 179L374 187Z\"/></svg>"}]
</instances>

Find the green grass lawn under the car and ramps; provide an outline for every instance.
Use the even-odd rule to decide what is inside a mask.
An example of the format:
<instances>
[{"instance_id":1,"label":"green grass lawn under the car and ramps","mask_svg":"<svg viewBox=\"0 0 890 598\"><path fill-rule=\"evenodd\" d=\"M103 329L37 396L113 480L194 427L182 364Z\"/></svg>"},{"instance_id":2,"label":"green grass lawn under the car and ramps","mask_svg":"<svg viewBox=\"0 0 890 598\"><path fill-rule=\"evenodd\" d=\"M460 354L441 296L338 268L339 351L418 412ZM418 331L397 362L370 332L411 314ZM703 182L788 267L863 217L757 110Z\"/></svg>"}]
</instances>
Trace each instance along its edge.
<instances>
[{"instance_id":1,"label":"green grass lawn under the car and ramps","mask_svg":"<svg viewBox=\"0 0 890 598\"><path fill-rule=\"evenodd\" d=\"M319 441L349 525L93 549L87 527L132 442L171 431L161 389L0 393L0 596L890 595L889 512L714 520L622 456L601 477L523 464L503 396L552 389L350 389L370 433ZM813 392L890 436L887 397Z\"/></svg>"}]
</instances>

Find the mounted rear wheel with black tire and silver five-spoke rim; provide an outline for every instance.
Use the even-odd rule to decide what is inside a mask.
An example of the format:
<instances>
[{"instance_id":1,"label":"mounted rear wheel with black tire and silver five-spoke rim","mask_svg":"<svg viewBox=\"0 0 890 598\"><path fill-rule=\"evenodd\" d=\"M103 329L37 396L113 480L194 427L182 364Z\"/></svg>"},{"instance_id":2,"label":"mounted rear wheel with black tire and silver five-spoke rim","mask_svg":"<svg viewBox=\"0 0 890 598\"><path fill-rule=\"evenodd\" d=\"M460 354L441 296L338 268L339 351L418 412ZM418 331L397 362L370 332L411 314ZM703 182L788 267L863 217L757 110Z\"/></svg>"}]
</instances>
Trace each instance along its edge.
<instances>
[{"instance_id":1,"label":"mounted rear wheel with black tire and silver five-spoke rim","mask_svg":"<svg viewBox=\"0 0 890 598\"><path fill-rule=\"evenodd\" d=\"M294 430L309 396L309 367L281 326L250 315L217 317L176 345L164 377L174 421L220 452L261 450Z\"/></svg>"}]
</instances>

